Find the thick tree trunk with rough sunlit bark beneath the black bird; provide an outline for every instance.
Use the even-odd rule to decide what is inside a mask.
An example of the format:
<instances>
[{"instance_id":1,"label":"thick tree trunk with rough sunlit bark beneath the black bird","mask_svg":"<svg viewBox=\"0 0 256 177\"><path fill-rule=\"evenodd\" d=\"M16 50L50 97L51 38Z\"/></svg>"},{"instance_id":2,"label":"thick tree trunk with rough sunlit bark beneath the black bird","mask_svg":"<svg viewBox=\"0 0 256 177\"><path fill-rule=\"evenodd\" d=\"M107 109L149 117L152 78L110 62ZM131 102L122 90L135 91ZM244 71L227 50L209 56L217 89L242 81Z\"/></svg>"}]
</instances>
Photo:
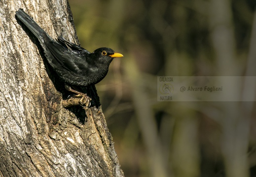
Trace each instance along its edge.
<instances>
[{"instance_id":1,"label":"thick tree trunk with rough sunlit bark beneath the black bird","mask_svg":"<svg viewBox=\"0 0 256 177\"><path fill-rule=\"evenodd\" d=\"M0 176L123 177L95 87L82 88L89 109L62 106L71 93L15 18L19 8L78 43L66 0L0 0Z\"/></svg>"}]
</instances>

